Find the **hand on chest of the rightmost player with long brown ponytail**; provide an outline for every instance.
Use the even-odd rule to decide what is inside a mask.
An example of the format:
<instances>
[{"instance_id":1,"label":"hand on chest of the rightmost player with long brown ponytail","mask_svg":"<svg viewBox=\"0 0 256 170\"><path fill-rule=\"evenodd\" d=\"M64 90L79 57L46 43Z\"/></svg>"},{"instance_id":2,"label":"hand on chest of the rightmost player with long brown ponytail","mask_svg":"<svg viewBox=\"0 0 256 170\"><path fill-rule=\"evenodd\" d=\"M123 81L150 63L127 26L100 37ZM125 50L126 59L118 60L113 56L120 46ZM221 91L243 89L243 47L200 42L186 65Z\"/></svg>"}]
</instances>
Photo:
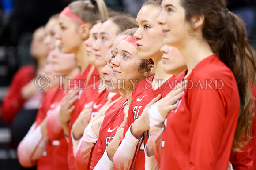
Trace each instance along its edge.
<instances>
[{"instance_id":1,"label":"hand on chest of the rightmost player with long brown ponytail","mask_svg":"<svg viewBox=\"0 0 256 170\"><path fill-rule=\"evenodd\" d=\"M169 92L166 97L162 98L157 103L157 108L162 117L166 118L173 109L177 108L177 101L181 99L186 87L186 81L176 85L176 87Z\"/></svg>"}]
</instances>

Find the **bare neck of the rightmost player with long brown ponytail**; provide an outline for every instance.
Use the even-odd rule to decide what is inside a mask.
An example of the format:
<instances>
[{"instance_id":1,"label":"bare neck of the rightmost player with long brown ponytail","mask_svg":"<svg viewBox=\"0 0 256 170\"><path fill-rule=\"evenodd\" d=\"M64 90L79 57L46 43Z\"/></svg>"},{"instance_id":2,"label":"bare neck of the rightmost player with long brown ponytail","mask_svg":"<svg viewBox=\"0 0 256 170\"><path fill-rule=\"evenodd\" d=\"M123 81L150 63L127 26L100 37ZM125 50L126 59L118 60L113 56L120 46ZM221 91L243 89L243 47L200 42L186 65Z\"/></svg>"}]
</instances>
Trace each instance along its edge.
<instances>
[{"instance_id":1,"label":"bare neck of the rightmost player with long brown ponytail","mask_svg":"<svg viewBox=\"0 0 256 170\"><path fill-rule=\"evenodd\" d=\"M181 52L181 55L184 57L187 64L188 73L186 77L200 61L214 54L210 45L203 39L199 40L194 38L190 41L186 41L185 44L177 47L177 49Z\"/></svg>"}]
</instances>

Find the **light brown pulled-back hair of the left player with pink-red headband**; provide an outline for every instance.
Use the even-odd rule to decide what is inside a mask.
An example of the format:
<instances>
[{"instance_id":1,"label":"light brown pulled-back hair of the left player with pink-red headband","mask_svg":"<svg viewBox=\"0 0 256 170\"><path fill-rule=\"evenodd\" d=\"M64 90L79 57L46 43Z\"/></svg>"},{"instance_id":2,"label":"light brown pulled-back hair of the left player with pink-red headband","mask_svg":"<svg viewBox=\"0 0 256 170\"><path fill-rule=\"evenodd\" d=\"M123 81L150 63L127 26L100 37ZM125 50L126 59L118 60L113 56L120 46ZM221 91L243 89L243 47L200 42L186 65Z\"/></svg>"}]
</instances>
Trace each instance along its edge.
<instances>
[{"instance_id":1,"label":"light brown pulled-back hair of the left player with pink-red headband","mask_svg":"<svg viewBox=\"0 0 256 170\"><path fill-rule=\"evenodd\" d=\"M108 10L103 0L79 0L72 2L68 7L90 27L97 20L108 18Z\"/></svg>"}]
</instances>

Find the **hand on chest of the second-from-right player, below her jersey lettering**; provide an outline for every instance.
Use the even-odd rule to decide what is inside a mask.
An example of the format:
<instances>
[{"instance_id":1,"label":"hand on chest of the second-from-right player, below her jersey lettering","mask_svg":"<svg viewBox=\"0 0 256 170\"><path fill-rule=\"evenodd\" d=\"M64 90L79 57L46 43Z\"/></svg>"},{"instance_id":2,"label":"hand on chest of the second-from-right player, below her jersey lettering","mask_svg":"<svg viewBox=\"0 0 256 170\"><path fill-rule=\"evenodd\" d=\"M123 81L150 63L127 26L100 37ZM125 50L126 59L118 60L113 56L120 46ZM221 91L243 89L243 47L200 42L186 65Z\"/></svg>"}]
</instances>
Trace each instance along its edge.
<instances>
[{"instance_id":1,"label":"hand on chest of the second-from-right player, below her jersey lettering","mask_svg":"<svg viewBox=\"0 0 256 170\"><path fill-rule=\"evenodd\" d=\"M151 108L151 105L154 105L158 100L160 100L161 94L154 98L149 104L146 105L145 109L141 113L138 119L134 121L131 127L131 133L137 139L140 139L143 133L149 130L149 117L148 110Z\"/></svg>"}]
</instances>

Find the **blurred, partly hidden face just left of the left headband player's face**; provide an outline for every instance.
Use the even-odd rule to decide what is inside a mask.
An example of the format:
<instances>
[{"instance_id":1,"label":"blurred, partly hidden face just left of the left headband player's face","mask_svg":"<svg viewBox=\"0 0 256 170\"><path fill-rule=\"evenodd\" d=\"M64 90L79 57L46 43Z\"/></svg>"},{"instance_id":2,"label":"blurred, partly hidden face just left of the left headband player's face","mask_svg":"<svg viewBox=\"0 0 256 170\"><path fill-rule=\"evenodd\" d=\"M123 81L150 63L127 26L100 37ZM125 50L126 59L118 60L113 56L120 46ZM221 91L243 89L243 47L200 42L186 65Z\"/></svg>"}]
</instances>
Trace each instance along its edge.
<instances>
[{"instance_id":1,"label":"blurred, partly hidden face just left of the left headband player's face","mask_svg":"<svg viewBox=\"0 0 256 170\"><path fill-rule=\"evenodd\" d=\"M45 25L45 40L44 43L47 46L48 54L53 50L54 43L55 43L55 34L58 30L58 20L57 19L50 19L47 24Z\"/></svg>"}]
</instances>

